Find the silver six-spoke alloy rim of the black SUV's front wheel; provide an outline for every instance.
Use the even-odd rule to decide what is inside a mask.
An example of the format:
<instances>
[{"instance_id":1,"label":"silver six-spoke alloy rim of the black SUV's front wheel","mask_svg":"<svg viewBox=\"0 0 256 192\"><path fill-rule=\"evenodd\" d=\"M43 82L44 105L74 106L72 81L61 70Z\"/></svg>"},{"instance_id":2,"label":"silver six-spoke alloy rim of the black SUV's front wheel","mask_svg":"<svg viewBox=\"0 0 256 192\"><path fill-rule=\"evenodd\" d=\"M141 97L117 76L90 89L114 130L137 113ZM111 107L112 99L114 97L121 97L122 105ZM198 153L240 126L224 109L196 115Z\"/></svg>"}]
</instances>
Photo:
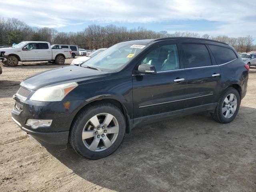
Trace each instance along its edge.
<instances>
[{"instance_id":1,"label":"silver six-spoke alloy rim of the black SUV's front wheel","mask_svg":"<svg viewBox=\"0 0 256 192\"><path fill-rule=\"evenodd\" d=\"M116 118L109 113L93 116L85 124L82 140L91 151L103 151L112 146L119 132Z\"/></svg>"}]
</instances>

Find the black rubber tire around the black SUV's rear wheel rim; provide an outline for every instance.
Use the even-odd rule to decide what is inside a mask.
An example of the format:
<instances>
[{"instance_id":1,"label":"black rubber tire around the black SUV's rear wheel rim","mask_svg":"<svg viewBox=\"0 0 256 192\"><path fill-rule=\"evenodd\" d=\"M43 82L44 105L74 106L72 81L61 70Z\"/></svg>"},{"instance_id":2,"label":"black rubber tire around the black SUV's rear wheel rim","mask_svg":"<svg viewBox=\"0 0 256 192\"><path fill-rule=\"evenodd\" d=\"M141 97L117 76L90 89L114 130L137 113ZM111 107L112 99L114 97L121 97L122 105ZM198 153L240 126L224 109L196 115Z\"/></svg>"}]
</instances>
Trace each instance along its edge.
<instances>
[{"instance_id":1,"label":"black rubber tire around the black SUV's rear wheel rim","mask_svg":"<svg viewBox=\"0 0 256 192\"><path fill-rule=\"evenodd\" d=\"M237 100L237 106L234 114L230 118L226 118L224 114L222 113L222 107L224 104L224 99L229 95L229 94L234 94L236 96ZM230 123L236 118L236 115L239 111L240 108L240 94L235 88L228 88L224 91L224 93L220 96L220 99L218 100L218 104L214 110L214 113L211 113L212 118L219 123Z\"/></svg>"}]
</instances>

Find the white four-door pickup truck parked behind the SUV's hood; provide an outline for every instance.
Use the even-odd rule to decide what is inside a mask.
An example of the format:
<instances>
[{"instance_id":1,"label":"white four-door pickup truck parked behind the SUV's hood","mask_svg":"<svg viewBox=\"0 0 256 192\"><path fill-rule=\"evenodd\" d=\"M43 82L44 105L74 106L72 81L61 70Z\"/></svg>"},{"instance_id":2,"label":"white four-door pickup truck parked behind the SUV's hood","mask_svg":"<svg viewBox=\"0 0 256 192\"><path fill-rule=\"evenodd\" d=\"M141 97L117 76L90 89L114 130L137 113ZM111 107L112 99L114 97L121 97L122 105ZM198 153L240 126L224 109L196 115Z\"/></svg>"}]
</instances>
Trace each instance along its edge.
<instances>
[{"instance_id":1,"label":"white four-door pickup truck parked behind the SUV's hood","mask_svg":"<svg viewBox=\"0 0 256 192\"><path fill-rule=\"evenodd\" d=\"M50 61L64 64L72 56L71 49L52 49L50 43L41 41L24 41L11 48L0 48L7 58L4 64L17 66L19 61Z\"/></svg>"}]
</instances>

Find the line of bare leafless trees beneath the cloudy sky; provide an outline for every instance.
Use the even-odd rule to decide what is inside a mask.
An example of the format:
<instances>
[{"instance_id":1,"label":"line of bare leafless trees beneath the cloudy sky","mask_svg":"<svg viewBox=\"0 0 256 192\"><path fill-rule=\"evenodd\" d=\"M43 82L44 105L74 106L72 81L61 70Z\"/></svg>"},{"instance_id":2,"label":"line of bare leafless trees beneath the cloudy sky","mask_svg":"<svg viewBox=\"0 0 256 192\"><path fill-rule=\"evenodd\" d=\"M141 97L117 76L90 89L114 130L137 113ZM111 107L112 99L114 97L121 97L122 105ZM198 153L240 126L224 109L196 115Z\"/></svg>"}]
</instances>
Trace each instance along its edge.
<instances>
[{"instance_id":1,"label":"line of bare leafless trees beneath the cloudy sky","mask_svg":"<svg viewBox=\"0 0 256 192\"><path fill-rule=\"evenodd\" d=\"M108 48L118 42L131 39L154 39L163 37L196 37L218 40L233 46L238 52L250 52L255 50L251 35L238 38L222 36L200 36L194 32L175 32L167 31L155 32L143 27L127 29L124 26L89 25L80 32L58 32L53 28L36 28L28 26L26 23L16 18L0 18L0 46L11 46L22 41L47 41L51 44L74 44L79 48L97 49Z\"/></svg>"}]
</instances>

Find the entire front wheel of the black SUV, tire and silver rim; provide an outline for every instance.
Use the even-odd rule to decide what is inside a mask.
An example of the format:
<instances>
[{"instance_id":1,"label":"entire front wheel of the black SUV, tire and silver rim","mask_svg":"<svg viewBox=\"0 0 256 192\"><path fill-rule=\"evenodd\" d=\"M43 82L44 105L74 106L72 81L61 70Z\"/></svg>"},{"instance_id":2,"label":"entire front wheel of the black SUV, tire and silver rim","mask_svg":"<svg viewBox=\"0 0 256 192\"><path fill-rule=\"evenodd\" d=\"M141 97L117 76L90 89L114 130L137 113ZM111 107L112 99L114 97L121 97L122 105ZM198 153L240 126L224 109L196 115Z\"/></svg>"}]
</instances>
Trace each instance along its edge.
<instances>
[{"instance_id":1,"label":"entire front wheel of the black SUV, tire and silver rim","mask_svg":"<svg viewBox=\"0 0 256 192\"><path fill-rule=\"evenodd\" d=\"M85 108L78 114L70 131L70 144L88 159L112 154L121 144L126 124L121 110L108 103Z\"/></svg>"}]
</instances>

